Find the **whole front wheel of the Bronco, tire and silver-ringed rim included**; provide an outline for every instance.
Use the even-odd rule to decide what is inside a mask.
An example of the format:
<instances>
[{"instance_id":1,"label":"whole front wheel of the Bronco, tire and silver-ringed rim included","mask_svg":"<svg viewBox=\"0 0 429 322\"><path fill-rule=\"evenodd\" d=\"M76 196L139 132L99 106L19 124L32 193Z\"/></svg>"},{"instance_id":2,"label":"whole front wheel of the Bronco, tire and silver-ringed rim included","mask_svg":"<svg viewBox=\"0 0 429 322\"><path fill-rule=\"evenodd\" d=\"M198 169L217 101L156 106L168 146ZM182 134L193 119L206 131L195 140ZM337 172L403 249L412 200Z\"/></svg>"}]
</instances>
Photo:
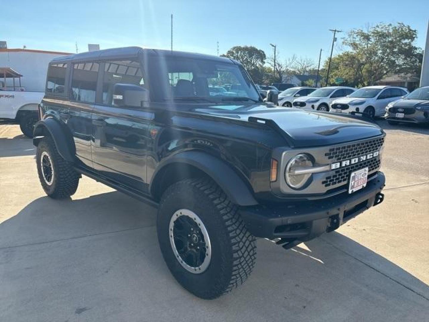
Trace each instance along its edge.
<instances>
[{"instance_id":1,"label":"whole front wheel of the Bronco, tire and silver-ringed rim included","mask_svg":"<svg viewBox=\"0 0 429 322\"><path fill-rule=\"evenodd\" d=\"M255 238L215 182L185 179L163 194L157 219L164 260L177 281L204 299L245 282L255 264Z\"/></svg>"}]
</instances>

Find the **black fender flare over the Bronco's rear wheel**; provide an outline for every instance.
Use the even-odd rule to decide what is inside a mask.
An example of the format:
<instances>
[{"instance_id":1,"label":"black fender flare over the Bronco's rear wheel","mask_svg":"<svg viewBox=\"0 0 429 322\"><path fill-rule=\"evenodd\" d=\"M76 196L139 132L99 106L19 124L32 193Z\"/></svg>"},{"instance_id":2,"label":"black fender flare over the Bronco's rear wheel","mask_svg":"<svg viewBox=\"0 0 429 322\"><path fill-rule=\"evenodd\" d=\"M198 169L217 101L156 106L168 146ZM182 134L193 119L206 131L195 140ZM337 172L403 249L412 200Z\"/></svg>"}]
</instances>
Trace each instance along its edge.
<instances>
[{"instance_id":1,"label":"black fender flare over the Bronco's rear wheel","mask_svg":"<svg viewBox=\"0 0 429 322\"><path fill-rule=\"evenodd\" d=\"M68 161L74 162L76 147L72 134L54 118L45 118L34 125L33 145L37 146L46 135L50 135L60 156Z\"/></svg>"}]
</instances>

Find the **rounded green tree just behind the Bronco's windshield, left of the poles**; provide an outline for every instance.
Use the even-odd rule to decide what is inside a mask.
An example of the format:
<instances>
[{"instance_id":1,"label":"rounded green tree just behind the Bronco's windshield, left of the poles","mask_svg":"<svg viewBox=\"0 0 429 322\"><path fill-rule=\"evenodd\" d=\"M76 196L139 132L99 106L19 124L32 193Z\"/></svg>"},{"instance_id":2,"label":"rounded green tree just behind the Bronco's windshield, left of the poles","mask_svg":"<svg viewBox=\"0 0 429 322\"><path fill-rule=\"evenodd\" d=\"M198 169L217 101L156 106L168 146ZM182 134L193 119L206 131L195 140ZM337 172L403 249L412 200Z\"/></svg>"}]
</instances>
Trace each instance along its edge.
<instances>
[{"instance_id":1,"label":"rounded green tree just behind the Bronco's windshield, left of the poles","mask_svg":"<svg viewBox=\"0 0 429 322\"><path fill-rule=\"evenodd\" d=\"M263 81L262 67L266 60L263 50L254 46L234 46L221 56L232 58L242 63L254 82L260 83Z\"/></svg>"}]
</instances>

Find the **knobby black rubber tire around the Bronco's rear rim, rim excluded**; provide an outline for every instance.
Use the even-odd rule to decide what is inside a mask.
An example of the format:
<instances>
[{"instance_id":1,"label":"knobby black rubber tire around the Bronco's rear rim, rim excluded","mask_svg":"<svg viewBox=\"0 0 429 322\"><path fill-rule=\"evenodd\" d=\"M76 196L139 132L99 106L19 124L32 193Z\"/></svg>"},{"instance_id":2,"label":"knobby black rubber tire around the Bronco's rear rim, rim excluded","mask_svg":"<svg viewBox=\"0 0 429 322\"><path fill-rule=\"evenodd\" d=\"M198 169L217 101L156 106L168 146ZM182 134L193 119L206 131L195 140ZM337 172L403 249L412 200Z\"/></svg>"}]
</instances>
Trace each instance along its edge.
<instances>
[{"instance_id":1,"label":"knobby black rubber tire around the Bronco's rear rim, rim excluded","mask_svg":"<svg viewBox=\"0 0 429 322\"><path fill-rule=\"evenodd\" d=\"M48 185L42 173L41 158L43 152L48 154L53 168L51 185ZM36 152L36 163L40 183L49 197L63 199L70 197L76 192L80 175L60 156L51 137L45 137L39 142Z\"/></svg>"}]
</instances>

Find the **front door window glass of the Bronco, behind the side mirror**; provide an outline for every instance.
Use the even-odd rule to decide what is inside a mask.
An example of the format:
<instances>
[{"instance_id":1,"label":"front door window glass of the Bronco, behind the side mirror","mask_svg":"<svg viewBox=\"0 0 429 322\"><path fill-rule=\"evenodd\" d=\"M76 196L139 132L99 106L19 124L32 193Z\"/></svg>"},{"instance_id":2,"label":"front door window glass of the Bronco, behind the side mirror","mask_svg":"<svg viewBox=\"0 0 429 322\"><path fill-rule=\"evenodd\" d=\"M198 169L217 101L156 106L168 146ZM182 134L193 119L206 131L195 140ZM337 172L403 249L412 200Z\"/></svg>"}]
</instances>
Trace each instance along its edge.
<instances>
[{"instance_id":1,"label":"front door window glass of the Bronco, behind the side mirror","mask_svg":"<svg viewBox=\"0 0 429 322\"><path fill-rule=\"evenodd\" d=\"M145 87L138 61L106 61L103 76L103 104L112 105L115 84L131 84Z\"/></svg>"}]
</instances>

